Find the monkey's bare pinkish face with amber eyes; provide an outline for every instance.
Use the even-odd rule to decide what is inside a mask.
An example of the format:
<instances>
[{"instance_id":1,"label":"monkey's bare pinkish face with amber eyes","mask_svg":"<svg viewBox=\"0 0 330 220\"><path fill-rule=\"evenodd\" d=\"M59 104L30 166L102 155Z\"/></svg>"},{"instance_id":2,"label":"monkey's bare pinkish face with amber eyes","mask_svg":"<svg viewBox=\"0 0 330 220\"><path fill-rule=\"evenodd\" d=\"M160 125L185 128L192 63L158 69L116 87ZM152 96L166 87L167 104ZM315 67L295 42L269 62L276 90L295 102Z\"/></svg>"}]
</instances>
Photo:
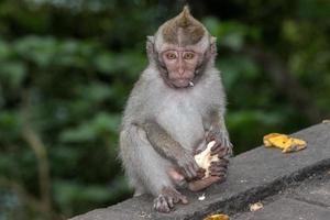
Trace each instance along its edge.
<instances>
[{"instance_id":1,"label":"monkey's bare pinkish face with amber eyes","mask_svg":"<svg viewBox=\"0 0 330 220\"><path fill-rule=\"evenodd\" d=\"M160 55L167 70L165 80L176 88L191 85L204 56L202 53L179 46L166 48Z\"/></svg>"}]
</instances>

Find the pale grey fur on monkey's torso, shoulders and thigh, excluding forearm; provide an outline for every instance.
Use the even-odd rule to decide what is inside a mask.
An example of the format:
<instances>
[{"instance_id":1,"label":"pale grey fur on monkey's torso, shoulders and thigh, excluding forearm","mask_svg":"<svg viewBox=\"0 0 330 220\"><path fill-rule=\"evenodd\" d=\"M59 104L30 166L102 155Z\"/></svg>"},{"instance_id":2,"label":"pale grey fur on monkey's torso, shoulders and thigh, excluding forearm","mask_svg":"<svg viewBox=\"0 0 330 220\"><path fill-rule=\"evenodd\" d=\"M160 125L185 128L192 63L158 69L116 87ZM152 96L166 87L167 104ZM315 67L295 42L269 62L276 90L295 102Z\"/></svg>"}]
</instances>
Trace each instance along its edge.
<instances>
[{"instance_id":1,"label":"pale grey fur on monkey's torso, shoulders and thigh, excluding forearm","mask_svg":"<svg viewBox=\"0 0 330 220\"><path fill-rule=\"evenodd\" d=\"M167 87L155 63L151 62L131 92L120 132L120 156L135 195L150 193L157 196L164 187L175 187L166 173L174 164L151 144L143 123L156 121L193 155L196 143L211 130L210 112L219 113L221 139L229 142L224 109L220 73L212 61L198 84L184 89Z\"/></svg>"}]
</instances>

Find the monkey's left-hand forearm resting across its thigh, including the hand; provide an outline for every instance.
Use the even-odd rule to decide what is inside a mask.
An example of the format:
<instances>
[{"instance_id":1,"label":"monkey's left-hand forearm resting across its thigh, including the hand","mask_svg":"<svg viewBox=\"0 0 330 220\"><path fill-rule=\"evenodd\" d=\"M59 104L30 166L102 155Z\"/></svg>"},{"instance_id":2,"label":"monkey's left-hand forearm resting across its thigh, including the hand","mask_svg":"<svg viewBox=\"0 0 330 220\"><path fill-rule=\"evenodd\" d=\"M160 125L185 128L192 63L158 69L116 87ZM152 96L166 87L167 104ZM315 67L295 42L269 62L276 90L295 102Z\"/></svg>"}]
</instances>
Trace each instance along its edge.
<instances>
[{"instance_id":1,"label":"monkey's left-hand forearm resting across its thigh, including the hand","mask_svg":"<svg viewBox=\"0 0 330 220\"><path fill-rule=\"evenodd\" d=\"M199 166L193 153L185 150L157 122L148 120L142 127L155 151L180 167L188 179L197 177Z\"/></svg>"}]
</instances>

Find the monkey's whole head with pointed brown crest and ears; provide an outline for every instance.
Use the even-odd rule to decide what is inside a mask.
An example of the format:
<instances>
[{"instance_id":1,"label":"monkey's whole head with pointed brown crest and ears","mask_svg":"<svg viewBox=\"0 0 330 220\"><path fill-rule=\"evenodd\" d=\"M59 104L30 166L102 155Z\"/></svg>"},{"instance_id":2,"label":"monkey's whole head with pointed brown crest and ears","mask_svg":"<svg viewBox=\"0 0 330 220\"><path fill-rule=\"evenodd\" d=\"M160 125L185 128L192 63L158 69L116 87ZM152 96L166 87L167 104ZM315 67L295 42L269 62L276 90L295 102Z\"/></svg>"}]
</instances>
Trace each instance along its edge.
<instances>
[{"instance_id":1,"label":"monkey's whole head with pointed brown crest and ears","mask_svg":"<svg viewBox=\"0 0 330 220\"><path fill-rule=\"evenodd\" d=\"M185 7L147 37L146 51L169 87L187 88L197 84L206 66L213 62L216 37Z\"/></svg>"}]
</instances>

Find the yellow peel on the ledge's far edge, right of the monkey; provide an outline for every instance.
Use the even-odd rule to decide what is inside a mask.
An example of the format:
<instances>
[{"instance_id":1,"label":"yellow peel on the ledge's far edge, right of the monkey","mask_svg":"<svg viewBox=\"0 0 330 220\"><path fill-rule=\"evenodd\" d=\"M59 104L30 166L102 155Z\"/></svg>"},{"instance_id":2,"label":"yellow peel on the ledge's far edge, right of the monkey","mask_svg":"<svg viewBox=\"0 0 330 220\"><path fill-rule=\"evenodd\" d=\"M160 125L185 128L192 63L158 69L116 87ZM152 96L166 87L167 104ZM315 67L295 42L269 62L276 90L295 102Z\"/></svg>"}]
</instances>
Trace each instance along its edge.
<instances>
[{"instance_id":1,"label":"yellow peel on the ledge's far edge, right of the monkey","mask_svg":"<svg viewBox=\"0 0 330 220\"><path fill-rule=\"evenodd\" d=\"M290 138L285 134L270 133L264 136L266 147L278 147L283 153L296 152L306 148L306 141Z\"/></svg>"}]
</instances>

